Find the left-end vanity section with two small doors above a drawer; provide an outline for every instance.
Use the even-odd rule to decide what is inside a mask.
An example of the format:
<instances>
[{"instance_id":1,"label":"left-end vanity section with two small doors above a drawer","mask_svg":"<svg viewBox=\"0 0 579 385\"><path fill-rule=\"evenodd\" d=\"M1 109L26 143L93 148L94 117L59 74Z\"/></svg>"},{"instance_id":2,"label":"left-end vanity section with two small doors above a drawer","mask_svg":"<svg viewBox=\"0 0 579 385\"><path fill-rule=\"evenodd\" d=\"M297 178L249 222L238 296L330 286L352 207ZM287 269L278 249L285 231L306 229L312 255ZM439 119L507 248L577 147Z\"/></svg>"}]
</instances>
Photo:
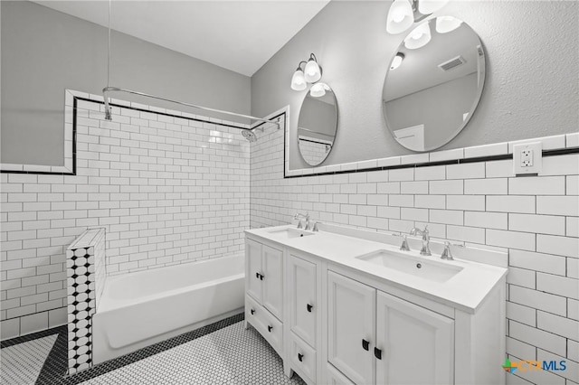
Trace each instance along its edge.
<instances>
[{"instance_id":1,"label":"left-end vanity section with two small doors above a drawer","mask_svg":"<svg viewBox=\"0 0 579 385\"><path fill-rule=\"evenodd\" d=\"M245 322L283 355L283 250L245 241Z\"/></svg>"}]
</instances>

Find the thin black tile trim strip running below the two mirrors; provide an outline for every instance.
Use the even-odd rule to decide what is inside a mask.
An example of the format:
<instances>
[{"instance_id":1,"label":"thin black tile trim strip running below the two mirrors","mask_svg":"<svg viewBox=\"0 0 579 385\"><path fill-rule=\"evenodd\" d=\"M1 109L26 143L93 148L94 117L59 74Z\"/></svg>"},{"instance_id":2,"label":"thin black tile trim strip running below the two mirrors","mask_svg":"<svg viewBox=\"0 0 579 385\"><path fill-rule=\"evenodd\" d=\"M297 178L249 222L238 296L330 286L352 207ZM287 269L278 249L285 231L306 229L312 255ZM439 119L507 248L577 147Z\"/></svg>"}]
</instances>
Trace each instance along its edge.
<instances>
[{"instance_id":1,"label":"thin black tile trim strip running below the two mirrors","mask_svg":"<svg viewBox=\"0 0 579 385\"><path fill-rule=\"evenodd\" d=\"M285 139L284 139L285 143ZM508 160L512 159L512 154L506 155L493 155L493 156L479 156L479 157L472 157L472 158L464 158L464 159L452 159L448 161L439 161L439 162L425 162L425 163L413 163L413 164L396 164L396 165L385 165L381 167L368 167L356 170L341 170L341 171L327 171L325 173L315 173L315 174L307 174L307 175L286 175L285 170L285 146L284 148L284 169L283 169L283 178L290 179L290 178L305 178L308 176L319 176L319 175L337 175L337 174L353 174L353 173L369 173L373 171L382 171L382 170L396 170L400 168L417 168L417 167L430 167L434 165L448 165L448 164L469 164L469 163L478 163L478 162L493 162L493 161L500 161L500 160ZM555 156L555 155L569 155L569 154L579 154L579 147L571 147L571 148L560 148L556 150L543 150L543 156Z\"/></svg>"}]
</instances>

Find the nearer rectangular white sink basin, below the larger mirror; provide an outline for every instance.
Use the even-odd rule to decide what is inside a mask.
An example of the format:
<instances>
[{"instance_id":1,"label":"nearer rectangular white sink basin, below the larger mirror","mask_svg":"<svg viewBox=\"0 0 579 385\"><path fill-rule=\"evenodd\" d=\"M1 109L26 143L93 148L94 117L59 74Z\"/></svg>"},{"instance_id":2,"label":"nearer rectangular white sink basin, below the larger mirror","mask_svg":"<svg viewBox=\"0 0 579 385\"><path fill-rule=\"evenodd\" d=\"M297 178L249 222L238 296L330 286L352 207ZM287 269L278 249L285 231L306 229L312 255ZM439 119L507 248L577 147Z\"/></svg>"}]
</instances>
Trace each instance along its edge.
<instances>
[{"instance_id":1,"label":"nearer rectangular white sink basin, below the larger mirror","mask_svg":"<svg viewBox=\"0 0 579 385\"><path fill-rule=\"evenodd\" d=\"M376 250L356 258L439 283L448 281L462 270L460 266L444 263L436 259L427 259L436 257L418 258L391 250Z\"/></svg>"}]
</instances>

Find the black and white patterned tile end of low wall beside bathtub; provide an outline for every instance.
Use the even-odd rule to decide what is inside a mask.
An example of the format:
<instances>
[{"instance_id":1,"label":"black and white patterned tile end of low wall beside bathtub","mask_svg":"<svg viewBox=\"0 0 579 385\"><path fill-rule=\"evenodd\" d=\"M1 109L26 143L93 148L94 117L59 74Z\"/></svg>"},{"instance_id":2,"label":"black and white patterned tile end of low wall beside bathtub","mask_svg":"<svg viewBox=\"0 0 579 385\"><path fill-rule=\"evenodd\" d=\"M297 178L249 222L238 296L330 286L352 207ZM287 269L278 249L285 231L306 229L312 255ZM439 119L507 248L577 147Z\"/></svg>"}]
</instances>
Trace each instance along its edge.
<instances>
[{"instance_id":1,"label":"black and white patterned tile end of low wall beside bathtub","mask_svg":"<svg viewBox=\"0 0 579 385\"><path fill-rule=\"evenodd\" d=\"M94 247L68 249L69 373L92 366L92 315L96 309Z\"/></svg>"}]
</instances>

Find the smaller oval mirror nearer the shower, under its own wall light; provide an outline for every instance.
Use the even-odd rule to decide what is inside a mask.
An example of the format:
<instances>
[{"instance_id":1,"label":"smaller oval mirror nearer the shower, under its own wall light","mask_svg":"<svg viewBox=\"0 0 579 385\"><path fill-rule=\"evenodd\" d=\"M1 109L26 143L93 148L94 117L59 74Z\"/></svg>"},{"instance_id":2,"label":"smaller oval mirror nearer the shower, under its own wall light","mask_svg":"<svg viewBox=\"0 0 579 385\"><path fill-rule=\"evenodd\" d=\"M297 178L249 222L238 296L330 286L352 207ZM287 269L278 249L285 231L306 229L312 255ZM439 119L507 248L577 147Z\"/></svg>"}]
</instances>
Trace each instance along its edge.
<instances>
[{"instance_id":1,"label":"smaller oval mirror nearer the shower, under its own wall light","mask_svg":"<svg viewBox=\"0 0 579 385\"><path fill-rule=\"evenodd\" d=\"M316 83L299 109L299 154L307 164L319 165L326 160L334 146L336 130L336 95L327 84Z\"/></svg>"}]
</instances>

